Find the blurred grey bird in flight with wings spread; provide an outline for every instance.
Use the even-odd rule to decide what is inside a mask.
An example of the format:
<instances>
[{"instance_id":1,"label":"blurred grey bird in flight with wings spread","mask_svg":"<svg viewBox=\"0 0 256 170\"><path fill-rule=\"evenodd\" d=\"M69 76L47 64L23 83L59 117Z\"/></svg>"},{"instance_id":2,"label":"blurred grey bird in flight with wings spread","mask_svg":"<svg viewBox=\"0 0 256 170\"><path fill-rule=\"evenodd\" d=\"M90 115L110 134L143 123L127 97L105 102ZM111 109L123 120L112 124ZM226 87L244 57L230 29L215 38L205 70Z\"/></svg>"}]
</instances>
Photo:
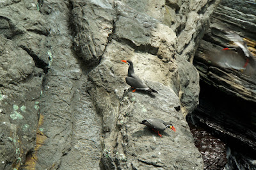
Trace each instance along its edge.
<instances>
[{"instance_id":1,"label":"blurred grey bird in flight with wings spread","mask_svg":"<svg viewBox=\"0 0 256 170\"><path fill-rule=\"evenodd\" d=\"M234 31L225 30L224 32L225 36L234 42L234 45L230 45L230 48L225 48L220 52L212 53L209 59L213 64L223 68L243 70L246 75L255 74L256 61L248 50L246 42Z\"/></svg>"}]
</instances>

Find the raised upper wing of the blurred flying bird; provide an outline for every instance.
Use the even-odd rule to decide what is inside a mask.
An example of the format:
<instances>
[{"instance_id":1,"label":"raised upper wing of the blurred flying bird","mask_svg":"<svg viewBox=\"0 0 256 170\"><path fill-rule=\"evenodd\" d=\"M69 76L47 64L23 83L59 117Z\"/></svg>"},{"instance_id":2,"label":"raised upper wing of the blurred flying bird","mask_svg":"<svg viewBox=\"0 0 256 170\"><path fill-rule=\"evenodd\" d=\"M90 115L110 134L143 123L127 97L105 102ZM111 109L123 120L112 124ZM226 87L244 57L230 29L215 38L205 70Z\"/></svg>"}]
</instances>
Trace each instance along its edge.
<instances>
[{"instance_id":1,"label":"raised upper wing of the blurred flying bird","mask_svg":"<svg viewBox=\"0 0 256 170\"><path fill-rule=\"evenodd\" d=\"M236 43L236 45L238 45L244 52L244 55L246 57L250 56L250 51L248 50L248 47L246 45L246 42L244 42L244 40L241 38L241 36L237 35L237 33L235 33L234 31L225 31L227 38Z\"/></svg>"}]
</instances>

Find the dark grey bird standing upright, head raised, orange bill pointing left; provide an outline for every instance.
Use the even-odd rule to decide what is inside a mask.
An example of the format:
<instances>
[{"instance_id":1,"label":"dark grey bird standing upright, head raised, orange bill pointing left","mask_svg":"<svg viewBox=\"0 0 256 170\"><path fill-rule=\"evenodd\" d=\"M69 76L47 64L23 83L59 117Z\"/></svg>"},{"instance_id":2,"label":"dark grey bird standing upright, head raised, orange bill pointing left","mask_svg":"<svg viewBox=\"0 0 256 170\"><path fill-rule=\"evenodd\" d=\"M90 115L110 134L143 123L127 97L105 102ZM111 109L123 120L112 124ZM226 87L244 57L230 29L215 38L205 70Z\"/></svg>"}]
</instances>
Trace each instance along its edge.
<instances>
[{"instance_id":1,"label":"dark grey bird standing upright, head raised, orange bill pointing left","mask_svg":"<svg viewBox=\"0 0 256 170\"><path fill-rule=\"evenodd\" d=\"M136 89L143 89L149 93L155 92L157 93L156 90L149 88L146 84L144 84L141 79L134 73L133 70L133 64L131 60L121 60L124 63L127 63L129 65L128 68L128 75L125 77L125 81L127 84L129 84L132 87L132 92L135 92Z\"/></svg>"}]
</instances>

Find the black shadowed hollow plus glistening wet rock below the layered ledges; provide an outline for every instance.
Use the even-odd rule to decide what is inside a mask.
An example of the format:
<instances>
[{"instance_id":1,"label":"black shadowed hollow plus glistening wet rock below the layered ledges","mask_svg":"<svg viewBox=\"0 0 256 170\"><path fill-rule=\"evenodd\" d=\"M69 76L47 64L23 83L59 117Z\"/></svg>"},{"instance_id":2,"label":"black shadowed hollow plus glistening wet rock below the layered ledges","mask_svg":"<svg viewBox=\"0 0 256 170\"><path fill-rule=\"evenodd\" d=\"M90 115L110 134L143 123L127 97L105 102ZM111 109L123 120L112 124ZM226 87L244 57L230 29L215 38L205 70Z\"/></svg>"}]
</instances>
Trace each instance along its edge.
<instances>
[{"instance_id":1,"label":"black shadowed hollow plus glistening wet rock below the layered ledges","mask_svg":"<svg viewBox=\"0 0 256 170\"><path fill-rule=\"evenodd\" d=\"M204 169L256 169L256 104L200 81L187 121Z\"/></svg>"}]
</instances>

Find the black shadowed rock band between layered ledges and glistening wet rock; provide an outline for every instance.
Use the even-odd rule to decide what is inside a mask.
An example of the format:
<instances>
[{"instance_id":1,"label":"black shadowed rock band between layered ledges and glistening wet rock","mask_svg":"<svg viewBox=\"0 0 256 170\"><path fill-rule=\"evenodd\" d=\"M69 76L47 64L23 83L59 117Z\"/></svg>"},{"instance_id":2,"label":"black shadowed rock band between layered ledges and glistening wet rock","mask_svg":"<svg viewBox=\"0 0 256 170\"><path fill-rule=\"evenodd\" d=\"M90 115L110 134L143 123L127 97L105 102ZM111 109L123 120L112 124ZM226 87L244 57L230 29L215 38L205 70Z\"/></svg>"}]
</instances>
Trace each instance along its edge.
<instances>
[{"instance_id":1,"label":"black shadowed rock band between layered ledges and glistening wet rock","mask_svg":"<svg viewBox=\"0 0 256 170\"><path fill-rule=\"evenodd\" d=\"M201 82L201 88L200 104L193 112L193 118L201 126L204 125L204 128L214 132L228 146L237 148L237 151L254 154L252 113L256 108L252 102L230 97L204 82Z\"/></svg>"}]
</instances>

